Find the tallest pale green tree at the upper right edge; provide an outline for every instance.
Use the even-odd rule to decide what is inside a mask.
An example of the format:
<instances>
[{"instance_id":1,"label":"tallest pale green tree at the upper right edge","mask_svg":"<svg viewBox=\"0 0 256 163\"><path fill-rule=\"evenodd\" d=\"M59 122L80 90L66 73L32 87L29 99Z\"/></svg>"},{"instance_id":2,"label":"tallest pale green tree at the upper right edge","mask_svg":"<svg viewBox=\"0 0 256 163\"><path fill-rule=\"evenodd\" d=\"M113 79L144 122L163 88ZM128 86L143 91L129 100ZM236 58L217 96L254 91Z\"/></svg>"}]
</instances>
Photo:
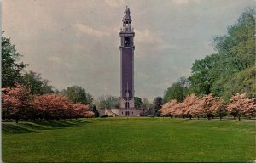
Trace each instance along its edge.
<instances>
[{"instance_id":1,"label":"tallest pale green tree at the upper right edge","mask_svg":"<svg viewBox=\"0 0 256 163\"><path fill-rule=\"evenodd\" d=\"M226 66L233 71L244 70L255 64L255 11L247 8L228 34L213 37L213 45Z\"/></svg>"}]
</instances>

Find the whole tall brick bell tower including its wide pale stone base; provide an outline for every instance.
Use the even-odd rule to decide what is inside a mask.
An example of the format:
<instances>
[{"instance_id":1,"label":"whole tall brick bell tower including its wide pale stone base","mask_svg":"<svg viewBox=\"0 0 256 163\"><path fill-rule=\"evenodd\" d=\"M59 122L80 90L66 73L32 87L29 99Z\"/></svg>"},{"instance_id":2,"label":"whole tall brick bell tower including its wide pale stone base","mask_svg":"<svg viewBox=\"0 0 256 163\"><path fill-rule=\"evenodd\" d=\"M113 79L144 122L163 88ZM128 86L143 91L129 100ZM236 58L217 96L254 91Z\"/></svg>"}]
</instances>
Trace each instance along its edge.
<instances>
[{"instance_id":1,"label":"whole tall brick bell tower including its wide pale stone base","mask_svg":"<svg viewBox=\"0 0 256 163\"><path fill-rule=\"evenodd\" d=\"M130 9L126 7L120 30L120 98L119 108L102 109L100 115L146 116L150 110L134 106L134 31L131 27ZM152 113L151 113L152 114Z\"/></svg>"}]
</instances>

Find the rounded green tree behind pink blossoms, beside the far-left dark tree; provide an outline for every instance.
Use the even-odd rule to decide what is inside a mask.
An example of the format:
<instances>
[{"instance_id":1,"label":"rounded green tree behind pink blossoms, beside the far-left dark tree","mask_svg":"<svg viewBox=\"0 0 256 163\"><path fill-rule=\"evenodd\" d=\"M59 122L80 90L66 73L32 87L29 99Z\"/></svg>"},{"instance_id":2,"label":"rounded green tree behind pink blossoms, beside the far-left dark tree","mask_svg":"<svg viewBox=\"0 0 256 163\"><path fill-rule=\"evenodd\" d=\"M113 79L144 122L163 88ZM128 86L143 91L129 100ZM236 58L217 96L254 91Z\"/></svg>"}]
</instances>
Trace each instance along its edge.
<instances>
[{"instance_id":1,"label":"rounded green tree behind pink blossoms, beside the far-left dark tree","mask_svg":"<svg viewBox=\"0 0 256 163\"><path fill-rule=\"evenodd\" d=\"M32 94L54 93L53 87L49 85L49 81L42 79L40 74L29 71L22 76L22 84L28 86Z\"/></svg>"}]
</instances>

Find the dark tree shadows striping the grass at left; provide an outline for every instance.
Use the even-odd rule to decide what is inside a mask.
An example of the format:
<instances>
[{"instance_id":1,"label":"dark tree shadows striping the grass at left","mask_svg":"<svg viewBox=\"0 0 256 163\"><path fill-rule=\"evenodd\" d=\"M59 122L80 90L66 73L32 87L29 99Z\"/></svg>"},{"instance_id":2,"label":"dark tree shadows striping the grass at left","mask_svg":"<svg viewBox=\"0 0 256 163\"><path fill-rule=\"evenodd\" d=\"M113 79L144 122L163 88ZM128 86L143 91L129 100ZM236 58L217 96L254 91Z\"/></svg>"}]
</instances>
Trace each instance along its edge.
<instances>
[{"instance_id":1,"label":"dark tree shadows striping the grass at left","mask_svg":"<svg viewBox=\"0 0 256 163\"><path fill-rule=\"evenodd\" d=\"M3 134L20 134L28 132L39 132L42 130L54 130L67 127L87 126L90 121L85 120L61 120L61 121L20 121L2 122Z\"/></svg>"}]
</instances>

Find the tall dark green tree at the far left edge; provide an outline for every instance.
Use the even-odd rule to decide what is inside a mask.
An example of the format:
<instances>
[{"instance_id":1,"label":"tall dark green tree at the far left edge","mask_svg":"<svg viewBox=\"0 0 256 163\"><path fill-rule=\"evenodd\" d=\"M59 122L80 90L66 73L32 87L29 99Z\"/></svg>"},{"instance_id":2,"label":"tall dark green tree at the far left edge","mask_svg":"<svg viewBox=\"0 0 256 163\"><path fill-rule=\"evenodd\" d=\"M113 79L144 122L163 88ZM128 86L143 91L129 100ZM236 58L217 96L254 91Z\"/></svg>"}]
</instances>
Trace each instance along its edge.
<instances>
[{"instance_id":1,"label":"tall dark green tree at the far left edge","mask_svg":"<svg viewBox=\"0 0 256 163\"><path fill-rule=\"evenodd\" d=\"M27 66L19 62L20 53L11 44L9 38L3 37L2 32L2 87L13 87L15 82L20 82L21 72Z\"/></svg>"}]
</instances>

